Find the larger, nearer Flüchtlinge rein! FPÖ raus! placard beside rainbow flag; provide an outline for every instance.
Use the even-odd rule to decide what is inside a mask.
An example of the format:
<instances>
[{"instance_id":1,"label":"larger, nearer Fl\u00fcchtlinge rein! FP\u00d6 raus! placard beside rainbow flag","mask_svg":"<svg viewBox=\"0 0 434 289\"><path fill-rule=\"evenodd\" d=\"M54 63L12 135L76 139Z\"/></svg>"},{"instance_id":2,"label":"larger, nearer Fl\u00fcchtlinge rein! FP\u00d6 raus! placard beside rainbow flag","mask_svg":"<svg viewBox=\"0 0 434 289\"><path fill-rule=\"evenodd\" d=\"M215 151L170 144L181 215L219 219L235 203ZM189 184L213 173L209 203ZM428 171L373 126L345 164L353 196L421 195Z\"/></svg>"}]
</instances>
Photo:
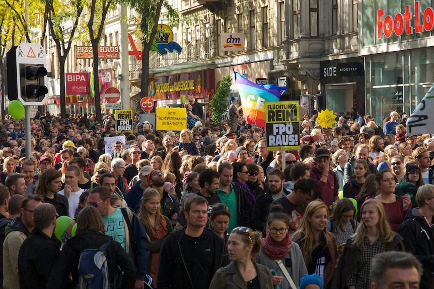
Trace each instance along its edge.
<instances>
[{"instance_id":1,"label":"larger, nearer Fl\u00fcchtlinge rein! FP\u00d6 raus! placard beside rainbow flag","mask_svg":"<svg viewBox=\"0 0 434 289\"><path fill-rule=\"evenodd\" d=\"M298 102L265 103L265 137L267 150L300 148Z\"/></svg>"}]
</instances>

